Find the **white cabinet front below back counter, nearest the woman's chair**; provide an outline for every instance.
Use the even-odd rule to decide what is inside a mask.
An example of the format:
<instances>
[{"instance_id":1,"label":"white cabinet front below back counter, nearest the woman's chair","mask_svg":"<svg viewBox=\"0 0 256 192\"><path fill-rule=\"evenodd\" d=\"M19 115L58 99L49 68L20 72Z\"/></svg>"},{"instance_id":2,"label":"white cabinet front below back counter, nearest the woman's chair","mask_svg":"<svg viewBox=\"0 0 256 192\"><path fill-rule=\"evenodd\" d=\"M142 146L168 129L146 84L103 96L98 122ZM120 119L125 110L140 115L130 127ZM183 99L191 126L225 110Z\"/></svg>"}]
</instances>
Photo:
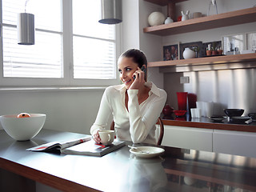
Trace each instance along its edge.
<instances>
[{"instance_id":1,"label":"white cabinet front below back counter, nearest the woman's chair","mask_svg":"<svg viewBox=\"0 0 256 192\"><path fill-rule=\"evenodd\" d=\"M186 126L165 126L162 146L212 151L213 130Z\"/></svg>"}]
</instances>

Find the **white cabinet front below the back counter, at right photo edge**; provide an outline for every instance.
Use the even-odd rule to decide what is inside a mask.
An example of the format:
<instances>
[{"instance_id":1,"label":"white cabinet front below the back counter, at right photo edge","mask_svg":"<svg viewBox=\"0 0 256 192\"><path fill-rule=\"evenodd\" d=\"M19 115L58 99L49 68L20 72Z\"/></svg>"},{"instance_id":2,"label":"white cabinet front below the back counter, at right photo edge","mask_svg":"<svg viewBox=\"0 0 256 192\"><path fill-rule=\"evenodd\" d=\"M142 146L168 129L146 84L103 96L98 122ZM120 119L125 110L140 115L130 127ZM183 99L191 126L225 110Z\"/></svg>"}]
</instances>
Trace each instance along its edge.
<instances>
[{"instance_id":1,"label":"white cabinet front below the back counter, at right photo edge","mask_svg":"<svg viewBox=\"0 0 256 192\"><path fill-rule=\"evenodd\" d=\"M256 158L256 133L214 130L213 151Z\"/></svg>"}]
</instances>

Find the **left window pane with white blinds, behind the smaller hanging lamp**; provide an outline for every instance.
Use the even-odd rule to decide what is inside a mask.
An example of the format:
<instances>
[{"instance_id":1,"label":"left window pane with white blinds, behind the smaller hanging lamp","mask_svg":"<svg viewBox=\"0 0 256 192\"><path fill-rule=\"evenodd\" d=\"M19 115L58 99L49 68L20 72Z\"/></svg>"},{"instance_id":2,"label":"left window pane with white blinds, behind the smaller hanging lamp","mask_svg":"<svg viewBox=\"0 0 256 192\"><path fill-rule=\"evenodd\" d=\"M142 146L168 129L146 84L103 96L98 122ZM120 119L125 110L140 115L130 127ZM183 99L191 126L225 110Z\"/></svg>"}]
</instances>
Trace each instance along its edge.
<instances>
[{"instance_id":1,"label":"left window pane with white blinds, behind the smaller hanging lamp","mask_svg":"<svg viewBox=\"0 0 256 192\"><path fill-rule=\"evenodd\" d=\"M17 18L25 3L2 0L3 77L62 78L61 0L27 1L26 12L35 20L34 46L17 44Z\"/></svg>"}]
</instances>

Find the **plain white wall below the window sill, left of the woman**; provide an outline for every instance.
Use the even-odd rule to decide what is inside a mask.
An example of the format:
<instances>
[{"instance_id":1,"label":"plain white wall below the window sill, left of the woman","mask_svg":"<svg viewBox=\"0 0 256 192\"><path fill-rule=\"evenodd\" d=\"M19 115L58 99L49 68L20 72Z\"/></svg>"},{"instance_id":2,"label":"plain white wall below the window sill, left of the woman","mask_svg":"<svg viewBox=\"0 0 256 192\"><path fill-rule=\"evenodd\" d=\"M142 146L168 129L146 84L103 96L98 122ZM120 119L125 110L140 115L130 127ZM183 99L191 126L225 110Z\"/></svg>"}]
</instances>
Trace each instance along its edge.
<instances>
[{"instance_id":1,"label":"plain white wall below the window sill, left of the woman","mask_svg":"<svg viewBox=\"0 0 256 192\"><path fill-rule=\"evenodd\" d=\"M0 91L0 114L46 114L43 128L90 134L103 90Z\"/></svg>"}]
</instances>

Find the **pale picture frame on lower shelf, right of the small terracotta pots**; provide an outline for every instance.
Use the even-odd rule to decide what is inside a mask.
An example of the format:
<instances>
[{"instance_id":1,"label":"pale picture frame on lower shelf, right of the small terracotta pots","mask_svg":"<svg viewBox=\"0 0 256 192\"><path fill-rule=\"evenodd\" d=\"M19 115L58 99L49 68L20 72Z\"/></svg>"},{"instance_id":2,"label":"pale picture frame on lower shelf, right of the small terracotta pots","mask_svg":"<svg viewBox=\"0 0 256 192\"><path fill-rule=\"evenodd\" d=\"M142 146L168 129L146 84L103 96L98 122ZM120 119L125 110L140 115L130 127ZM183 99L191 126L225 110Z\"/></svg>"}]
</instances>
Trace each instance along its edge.
<instances>
[{"instance_id":1,"label":"pale picture frame on lower shelf, right of the small terracotta pots","mask_svg":"<svg viewBox=\"0 0 256 192\"><path fill-rule=\"evenodd\" d=\"M233 34L222 37L223 54L240 54L246 50L246 34Z\"/></svg>"}]
</instances>

